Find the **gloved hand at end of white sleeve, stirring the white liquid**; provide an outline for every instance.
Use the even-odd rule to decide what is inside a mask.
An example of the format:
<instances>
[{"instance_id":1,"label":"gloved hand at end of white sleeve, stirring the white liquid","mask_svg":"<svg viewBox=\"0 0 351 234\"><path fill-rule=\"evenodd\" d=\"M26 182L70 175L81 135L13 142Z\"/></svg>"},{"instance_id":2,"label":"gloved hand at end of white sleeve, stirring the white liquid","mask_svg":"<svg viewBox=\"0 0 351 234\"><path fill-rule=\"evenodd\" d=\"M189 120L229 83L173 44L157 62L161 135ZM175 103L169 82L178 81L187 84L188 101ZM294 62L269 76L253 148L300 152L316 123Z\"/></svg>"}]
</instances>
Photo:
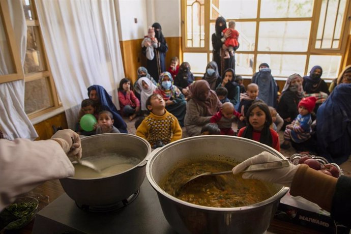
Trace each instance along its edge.
<instances>
[{"instance_id":1,"label":"gloved hand at end of white sleeve, stirring the white liquid","mask_svg":"<svg viewBox=\"0 0 351 234\"><path fill-rule=\"evenodd\" d=\"M78 159L82 157L79 135L71 129L57 131L51 139L61 145L68 157L77 157Z\"/></svg>"}]
</instances>

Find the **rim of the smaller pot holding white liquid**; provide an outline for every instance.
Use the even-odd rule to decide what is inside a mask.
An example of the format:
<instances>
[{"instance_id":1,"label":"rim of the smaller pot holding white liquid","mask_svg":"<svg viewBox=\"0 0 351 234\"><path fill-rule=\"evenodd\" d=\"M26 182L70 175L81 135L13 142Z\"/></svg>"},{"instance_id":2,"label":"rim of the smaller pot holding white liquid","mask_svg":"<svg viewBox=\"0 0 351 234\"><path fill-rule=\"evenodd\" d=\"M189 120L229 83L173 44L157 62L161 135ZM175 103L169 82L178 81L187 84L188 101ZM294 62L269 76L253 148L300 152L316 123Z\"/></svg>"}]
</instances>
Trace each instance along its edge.
<instances>
[{"instance_id":1,"label":"rim of the smaller pot holding white liquid","mask_svg":"<svg viewBox=\"0 0 351 234\"><path fill-rule=\"evenodd\" d=\"M133 170L134 168L136 167L144 167L147 165L147 159L148 159L148 156L150 155L151 153L151 145L149 143L149 141L145 140L144 138L141 138L140 136L137 136L137 135L133 135L133 134L129 134L129 133L104 133L104 134L97 134L97 135L92 135L92 136L86 136L86 137L83 137L80 139L80 141L84 141L86 139L91 139L91 138L95 138L95 137L101 137L101 135L104 135L104 136L108 136L108 135L121 135L121 136L128 136L128 137L132 137L132 138L137 138L138 140L142 141L143 143L145 143L148 147L148 154L145 155L144 159L141 160L140 163L138 163L137 165L131 167L130 169L128 170L125 170L125 171L122 171L120 173L116 173L116 174L112 174L111 176L108 176L108 177L97 177L97 178L74 178L74 177L68 177L68 178L65 178L65 179L70 179L70 180L78 180L78 181L85 181L85 180L89 180L89 181L92 181L92 180L104 180L106 178L111 178L111 177L114 177L114 176L119 176L120 174L123 174L123 173L126 173L127 171L130 171L130 170Z\"/></svg>"}]
</instances>

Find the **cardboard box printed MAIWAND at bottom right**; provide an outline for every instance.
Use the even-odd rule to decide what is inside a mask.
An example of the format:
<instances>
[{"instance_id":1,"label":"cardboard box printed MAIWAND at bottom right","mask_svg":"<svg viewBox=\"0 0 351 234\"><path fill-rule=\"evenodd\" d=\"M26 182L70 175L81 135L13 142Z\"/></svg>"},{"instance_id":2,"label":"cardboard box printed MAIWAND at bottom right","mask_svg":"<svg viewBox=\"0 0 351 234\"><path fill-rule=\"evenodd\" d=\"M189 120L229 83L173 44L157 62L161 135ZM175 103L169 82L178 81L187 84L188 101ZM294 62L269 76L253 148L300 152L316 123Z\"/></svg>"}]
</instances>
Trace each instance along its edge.
<instances>
[{"instance_id":1,"label":"cardboard box printed MAIWAND at bottom right","mask_svg":"<svg viewBox=\"0 0 351 234\"><path fill-rule=\"evenodd\" d=\"M308 227L323 233L349 234L350 228L336 223L330 213L317 204L289 192L280 200L275 219Z\"/></svg>"}]
</instances>

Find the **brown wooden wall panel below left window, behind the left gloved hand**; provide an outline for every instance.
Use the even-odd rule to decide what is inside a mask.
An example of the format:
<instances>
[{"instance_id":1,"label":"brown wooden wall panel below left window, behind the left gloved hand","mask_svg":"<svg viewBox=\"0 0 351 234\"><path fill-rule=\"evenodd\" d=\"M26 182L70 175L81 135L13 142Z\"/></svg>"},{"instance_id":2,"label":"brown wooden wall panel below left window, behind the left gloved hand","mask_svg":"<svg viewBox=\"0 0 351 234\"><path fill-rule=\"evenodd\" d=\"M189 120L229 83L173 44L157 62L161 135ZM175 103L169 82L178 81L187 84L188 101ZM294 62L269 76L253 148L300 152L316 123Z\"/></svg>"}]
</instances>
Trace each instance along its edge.
<instances>
[{"instance_id":1,"label":"brown wooden wall panel below left window, behind the left gloved hand","mask_svg":"<svg viewBox=\"0 0 351 234\"><path fill-rule=\"evenodd\" d=\"M36 140L46 140L53 135L52 125L56 128L62 127L62 129L67 129L67 119L65 112L57 114L43 122L34 125L39 137Z\"/></svg>"}]
</instances>

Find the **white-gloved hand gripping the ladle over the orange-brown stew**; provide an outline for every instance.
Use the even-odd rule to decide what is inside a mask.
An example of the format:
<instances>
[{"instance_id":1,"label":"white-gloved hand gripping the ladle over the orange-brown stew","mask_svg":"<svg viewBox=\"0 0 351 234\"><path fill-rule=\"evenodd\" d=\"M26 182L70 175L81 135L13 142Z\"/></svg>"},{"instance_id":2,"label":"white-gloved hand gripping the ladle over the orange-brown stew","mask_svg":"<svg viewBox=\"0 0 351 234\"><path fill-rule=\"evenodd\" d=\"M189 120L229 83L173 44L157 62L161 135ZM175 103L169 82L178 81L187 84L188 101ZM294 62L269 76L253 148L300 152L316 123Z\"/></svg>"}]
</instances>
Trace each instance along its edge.
<instances>
[{"instance_id":1,"label":"white-gloved hand gripping the ladle over the orange-brown stew","mask_svg":"<svg viewBox=\"0 0 351 234\"><path fill-rule=\"evenodd\" d=\"M250 165L277 161L279 159L280 158L272 155L271 153L264 151L256 156L246 159L244 162L233 167L232 172L233 174L238 174ZM299 166L290 163L290 166L281 169L244 172L242 177L243 179L257 179L275 184L281 184L286 187L291 187L291 182L293 182L293 178L298 168Z\"/></svg>"}]
</instances>

